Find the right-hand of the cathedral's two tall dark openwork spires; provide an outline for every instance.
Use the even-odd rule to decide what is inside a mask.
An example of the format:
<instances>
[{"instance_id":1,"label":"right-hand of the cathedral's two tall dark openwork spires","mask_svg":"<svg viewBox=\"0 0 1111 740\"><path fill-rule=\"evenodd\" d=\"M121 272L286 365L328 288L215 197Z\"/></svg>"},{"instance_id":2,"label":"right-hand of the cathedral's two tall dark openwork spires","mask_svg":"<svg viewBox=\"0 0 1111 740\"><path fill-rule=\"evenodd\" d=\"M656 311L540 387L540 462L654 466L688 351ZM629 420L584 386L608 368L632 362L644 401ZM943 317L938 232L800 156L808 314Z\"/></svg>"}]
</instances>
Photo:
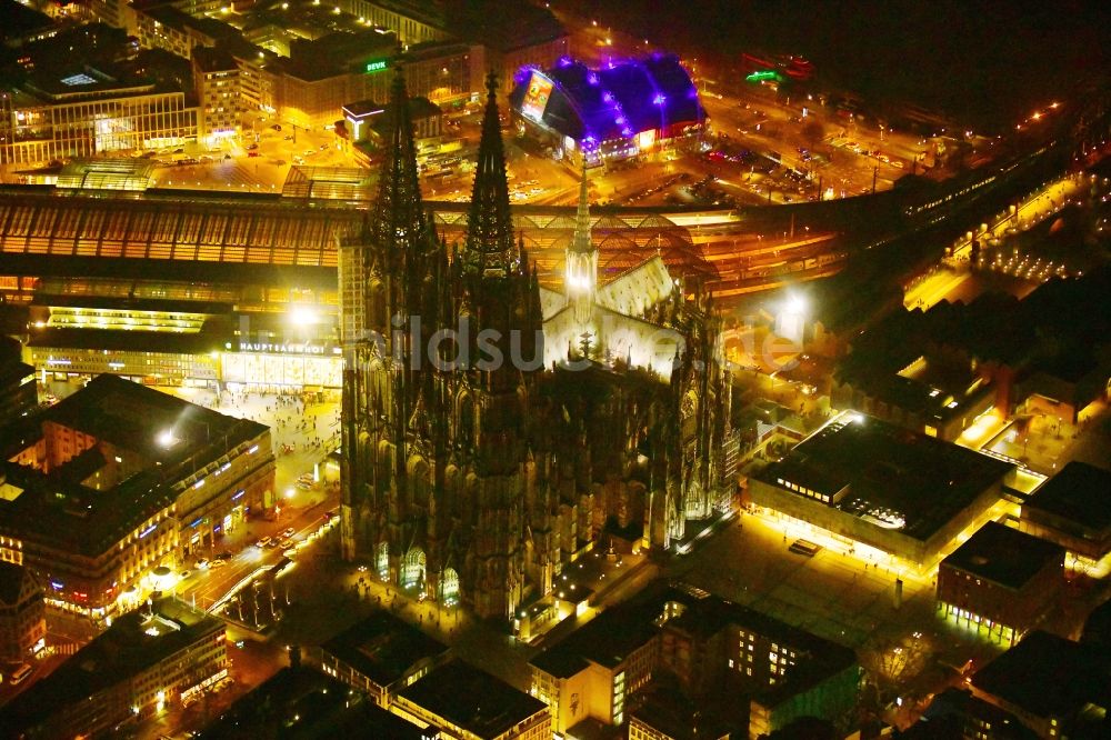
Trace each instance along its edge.
<instances>
[{"instance_id":1,"label":"right-hand of the cathedral's two tall dark openwork spires","mask_svg":"<svg viewBox=\"0 0 1111 740\"><path fill-rule=\"evenodd\" d=\"M514 266L513 222L509 213L509 182L506 179L506 152L498 117L498 80L487 77L487 108L482 119L482 139L474 169L474 189L467 222L466 259L480 273L506 271Z\"/></svg>"}]
</instances>

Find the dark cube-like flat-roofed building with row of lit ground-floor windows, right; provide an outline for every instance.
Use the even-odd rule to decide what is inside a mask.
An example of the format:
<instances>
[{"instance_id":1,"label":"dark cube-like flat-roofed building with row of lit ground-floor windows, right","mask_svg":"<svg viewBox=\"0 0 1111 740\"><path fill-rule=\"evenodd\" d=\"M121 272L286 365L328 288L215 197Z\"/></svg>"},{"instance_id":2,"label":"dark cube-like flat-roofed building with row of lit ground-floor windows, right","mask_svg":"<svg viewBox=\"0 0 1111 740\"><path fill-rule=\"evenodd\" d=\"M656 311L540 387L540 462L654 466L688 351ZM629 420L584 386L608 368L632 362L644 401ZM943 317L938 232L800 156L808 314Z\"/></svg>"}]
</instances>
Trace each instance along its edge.
<instances>
[{"instance_id":1,"label":"dark cube-like flat-roofed building with row of lit ground-floor windows, right","mask_svg":"<svg viewBox=\"0 0 1111 740\"><path fill-rule=\"evenodd\" d=\"M1014 644L1064 584L1064 548L989 521L938 567L938 610Z\"/></svg>"}]
</instances>

